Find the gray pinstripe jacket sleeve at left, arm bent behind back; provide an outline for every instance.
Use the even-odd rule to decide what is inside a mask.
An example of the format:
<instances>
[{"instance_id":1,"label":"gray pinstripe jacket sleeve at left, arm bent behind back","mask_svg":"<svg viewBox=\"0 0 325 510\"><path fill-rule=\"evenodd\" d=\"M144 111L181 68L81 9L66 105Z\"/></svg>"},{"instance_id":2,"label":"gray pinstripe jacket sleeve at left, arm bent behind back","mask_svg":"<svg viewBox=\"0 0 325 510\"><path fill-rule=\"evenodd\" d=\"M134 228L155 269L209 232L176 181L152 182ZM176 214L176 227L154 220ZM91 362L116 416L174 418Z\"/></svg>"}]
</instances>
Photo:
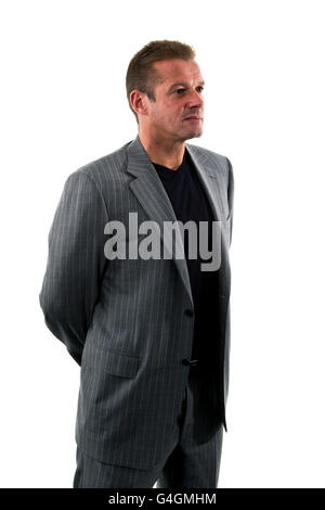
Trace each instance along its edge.
<instances>
[{"instance_id":1,"label":"gray pinstripe jacket sleeve at left, arm bent behind back","mask_svg":"<svg viewBox=\"0 0 325 510\"><path fill-rule=\"evenodd\" d=\"M70 174L49 232L39 303L47 327L78 365L108 263L106 222L107 208L94 178L82 168Z\"/></svg>"}]
</instances>

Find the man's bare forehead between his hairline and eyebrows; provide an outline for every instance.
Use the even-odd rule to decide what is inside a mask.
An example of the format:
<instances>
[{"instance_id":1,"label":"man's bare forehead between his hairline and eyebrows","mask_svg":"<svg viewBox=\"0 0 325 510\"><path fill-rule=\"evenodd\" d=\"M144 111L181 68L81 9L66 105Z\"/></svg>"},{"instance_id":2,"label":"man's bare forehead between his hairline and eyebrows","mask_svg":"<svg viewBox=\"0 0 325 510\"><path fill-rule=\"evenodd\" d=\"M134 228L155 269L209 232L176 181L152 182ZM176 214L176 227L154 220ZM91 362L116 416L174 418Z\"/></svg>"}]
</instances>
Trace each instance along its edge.
<instances>
[{"instance_id":1,"label":"man's bare forehead between his hairline and eyebrows","mask_svg":"<svg viewBox=\"0 0 325 510\"><path fill-rule=\"evenodd\" d=\"M202 74L197 62L190 60L172 59L154 63L155 69L162 79L162 87L179 81L200 81Z\"/></svg>"}]
</instances>

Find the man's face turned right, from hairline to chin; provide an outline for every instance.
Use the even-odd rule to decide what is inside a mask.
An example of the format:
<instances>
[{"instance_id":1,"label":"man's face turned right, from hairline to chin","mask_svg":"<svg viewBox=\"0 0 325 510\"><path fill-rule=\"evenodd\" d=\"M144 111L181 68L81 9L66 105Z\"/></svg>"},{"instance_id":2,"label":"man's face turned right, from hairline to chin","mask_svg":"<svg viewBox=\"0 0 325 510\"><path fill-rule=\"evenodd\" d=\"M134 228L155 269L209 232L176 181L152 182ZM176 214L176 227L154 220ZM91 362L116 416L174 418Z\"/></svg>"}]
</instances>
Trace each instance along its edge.
<instances>
[{"instance_id":1,"label":"man's face turned right, from hairline to chin","mask_svg":"<svg viewBox=\"0 0 325 510\"><path fill-rule=\"evenodd\" d=\"M156 62L162 82L154 89L155 102L145 97L146 123L155 138L185 141L200 137L204 122L204 80L195 61Z\"/></svg>"}]
</instances>

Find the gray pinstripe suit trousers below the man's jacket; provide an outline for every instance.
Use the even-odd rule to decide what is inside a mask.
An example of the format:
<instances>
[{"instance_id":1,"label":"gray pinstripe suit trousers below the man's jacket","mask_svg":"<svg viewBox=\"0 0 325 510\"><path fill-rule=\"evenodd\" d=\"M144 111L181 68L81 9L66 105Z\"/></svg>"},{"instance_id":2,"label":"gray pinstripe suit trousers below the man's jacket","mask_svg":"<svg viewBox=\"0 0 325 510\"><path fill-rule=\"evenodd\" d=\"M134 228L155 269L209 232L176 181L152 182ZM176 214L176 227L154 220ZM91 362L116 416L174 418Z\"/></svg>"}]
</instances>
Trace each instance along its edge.
<instances>
[{"instance_id":1,"label":"gray pinstripe suit trousers below the man's jacket","mask_svg":"<svg viewBox=\"0 0 325 510\"><path fill-rule=\"evenodd\" d=\"M150 488L155 482L156 488L217 488L223 430L220 421L211 420L213 373L197 368L188 375L178 417L179 437L157 464L148 470L114 466L77 447L74 488Z\"/></svg>"}]
</instances>

